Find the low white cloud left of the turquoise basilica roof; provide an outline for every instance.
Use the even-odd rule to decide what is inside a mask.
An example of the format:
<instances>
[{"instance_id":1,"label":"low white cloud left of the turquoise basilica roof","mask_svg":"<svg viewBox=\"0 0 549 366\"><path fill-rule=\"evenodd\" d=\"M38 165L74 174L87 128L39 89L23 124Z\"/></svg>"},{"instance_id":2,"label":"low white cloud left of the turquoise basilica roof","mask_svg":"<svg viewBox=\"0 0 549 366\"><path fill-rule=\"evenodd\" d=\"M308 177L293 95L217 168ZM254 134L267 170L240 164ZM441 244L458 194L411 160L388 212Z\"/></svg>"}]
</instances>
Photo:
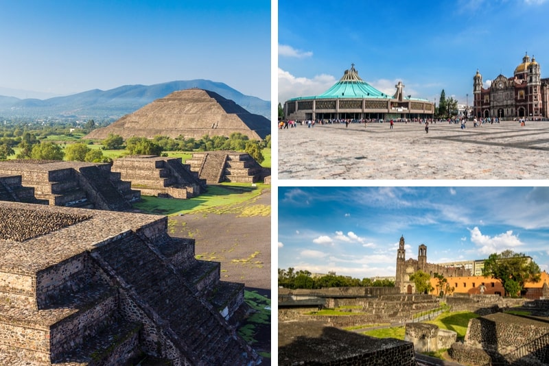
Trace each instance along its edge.
<instances>
[{"instance_id":1,"label":"low white cloud left of the turquoise basilica roof","mask_svg":"<svg viewBox=\"0 0 549 366\"><path fill-rule=\"evenodd\" d=\"M336 84L337 80L332 75L316 75L312 79L307 77L295 77L279 68L279 102L284 103L294 97L310 97L324 93Z\"/></svg>"}]
</instances>

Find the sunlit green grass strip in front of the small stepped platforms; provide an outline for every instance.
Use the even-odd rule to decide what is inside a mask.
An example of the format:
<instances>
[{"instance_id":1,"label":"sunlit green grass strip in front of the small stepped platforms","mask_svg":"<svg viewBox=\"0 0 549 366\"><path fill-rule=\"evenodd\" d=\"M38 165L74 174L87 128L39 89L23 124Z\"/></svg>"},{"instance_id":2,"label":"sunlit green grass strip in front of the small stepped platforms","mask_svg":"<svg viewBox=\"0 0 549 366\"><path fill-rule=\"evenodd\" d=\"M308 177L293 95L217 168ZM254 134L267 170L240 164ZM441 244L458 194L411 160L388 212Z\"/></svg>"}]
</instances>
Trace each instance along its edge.
<instances>
[{"instance_id":1,"label":"sunlit green grass strip in front of the small stepped platforms","mask_svg":"<svg viewBox=\"0 0 549 366\"><path fill-rule=\"evenodd\" d=\"M208 186L206 193L191 199L167 199L153 196L141 196L141 202L133 206L143 212L158 215L183 215L189 212L223 213L231 210L235 204L246 202L259 196L266 186L257 183L255 187L248 183L227 183ZM270 215L270 208L268 210Z\"/></svg>"}]
</instances>

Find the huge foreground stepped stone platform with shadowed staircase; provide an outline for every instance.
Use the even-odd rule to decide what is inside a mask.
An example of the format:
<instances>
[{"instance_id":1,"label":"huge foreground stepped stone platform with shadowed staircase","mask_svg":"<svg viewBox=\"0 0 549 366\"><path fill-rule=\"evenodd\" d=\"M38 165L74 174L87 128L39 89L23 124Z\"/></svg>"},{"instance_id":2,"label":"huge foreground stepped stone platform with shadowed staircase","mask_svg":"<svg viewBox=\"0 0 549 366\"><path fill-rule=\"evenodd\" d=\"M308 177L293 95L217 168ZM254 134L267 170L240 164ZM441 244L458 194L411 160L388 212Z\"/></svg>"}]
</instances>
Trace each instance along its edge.
<instances>
[{"instance_id":1,"label":"huge foreground stepped stone platform with shadowed staircase","mask_svg":"<svg viewBox=\"0 0 549 366\"><path fill-rule=\"evenodd\" d=\"M243 284L156 215L0 202L0 365L255 365Z\"/></svg>"}]
</instances>

